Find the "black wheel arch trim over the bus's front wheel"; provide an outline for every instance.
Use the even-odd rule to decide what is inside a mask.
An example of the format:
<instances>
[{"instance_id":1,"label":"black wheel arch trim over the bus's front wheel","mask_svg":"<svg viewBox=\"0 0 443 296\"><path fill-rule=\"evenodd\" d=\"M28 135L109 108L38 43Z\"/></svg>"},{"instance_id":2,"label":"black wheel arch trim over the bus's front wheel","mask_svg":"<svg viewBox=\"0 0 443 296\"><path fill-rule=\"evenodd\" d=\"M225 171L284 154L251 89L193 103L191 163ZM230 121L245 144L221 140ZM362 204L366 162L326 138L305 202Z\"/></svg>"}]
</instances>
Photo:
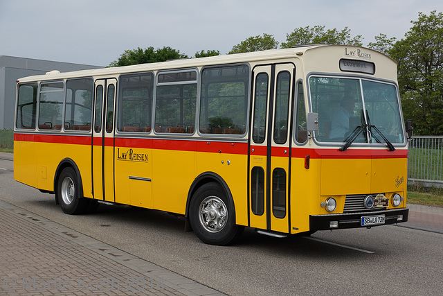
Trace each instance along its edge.
<instances>
[{"instance_id":1,"label":"black wheel arch trim over the bus's front wheel","mask_svg":"<svg viewBox=\"0 0 443 296\"><path fill-rule=\"evenodd\" d=\"M215 182L215 183L219 184L221 186L221 188L224 190L224 192L226 193L226 197L228 198L230 209L233 209L233 216L234 216L234 222L235 222L235 220L237 220L237 218L235 216L235 204L234 204L233 195L230 192L229 186L226 183L226 181L220 175L218 175L217 173L214 173L214 172L201 173L200 175L198 175L195 178L194 182L192 182L190 189L188 191L188 198L186 199L185 218L189 218L190 202L192 200L192 197L193 197L195 191L197 191L197 189L199 189L204 184L207 184L210 182Z\"/></svg>"}]
</instances>

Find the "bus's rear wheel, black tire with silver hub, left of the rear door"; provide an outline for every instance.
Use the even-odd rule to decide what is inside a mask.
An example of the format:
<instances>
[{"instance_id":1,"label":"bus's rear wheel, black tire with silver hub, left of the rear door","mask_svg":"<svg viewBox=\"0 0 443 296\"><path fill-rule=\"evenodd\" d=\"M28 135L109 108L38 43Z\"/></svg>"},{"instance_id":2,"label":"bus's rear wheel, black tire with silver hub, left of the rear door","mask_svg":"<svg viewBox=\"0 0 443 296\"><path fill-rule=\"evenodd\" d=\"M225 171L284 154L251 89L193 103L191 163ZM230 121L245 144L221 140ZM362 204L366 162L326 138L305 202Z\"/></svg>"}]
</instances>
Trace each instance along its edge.
<instances>
[{"instance_id":1,"label":"bus's rear wheel, black tire with silver hub, left of the rear door","mask_svg":"<svg viewBox=\"0 0 443 296\"><path fill-rule=\"evenodd\" d=\"M74 169L64 168L57 182L57 198L65 214L83 214L88 206L89 198L83 198L80 184Z\"/></svg>"}]
</instances>

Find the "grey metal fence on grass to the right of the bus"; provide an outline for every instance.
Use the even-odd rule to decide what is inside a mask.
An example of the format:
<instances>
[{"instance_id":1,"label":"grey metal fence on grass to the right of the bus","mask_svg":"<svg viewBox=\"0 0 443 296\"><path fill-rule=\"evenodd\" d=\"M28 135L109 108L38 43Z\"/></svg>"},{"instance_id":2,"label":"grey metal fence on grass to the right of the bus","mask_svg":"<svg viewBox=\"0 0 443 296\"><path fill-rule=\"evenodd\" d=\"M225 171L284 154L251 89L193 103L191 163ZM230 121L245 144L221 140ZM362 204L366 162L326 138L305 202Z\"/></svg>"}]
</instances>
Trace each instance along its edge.
<instances>
[{"instance_id":1,"label":"grey metal fence on grass to the right of the bus","mask_svg":"<svg viewBox=\"0 0 443 296\"><path fill-rule=\"evenodd\" d=\"M409 142L408 182L443 187L443 137L413 137Z\"/></svg>"}]
</instances>

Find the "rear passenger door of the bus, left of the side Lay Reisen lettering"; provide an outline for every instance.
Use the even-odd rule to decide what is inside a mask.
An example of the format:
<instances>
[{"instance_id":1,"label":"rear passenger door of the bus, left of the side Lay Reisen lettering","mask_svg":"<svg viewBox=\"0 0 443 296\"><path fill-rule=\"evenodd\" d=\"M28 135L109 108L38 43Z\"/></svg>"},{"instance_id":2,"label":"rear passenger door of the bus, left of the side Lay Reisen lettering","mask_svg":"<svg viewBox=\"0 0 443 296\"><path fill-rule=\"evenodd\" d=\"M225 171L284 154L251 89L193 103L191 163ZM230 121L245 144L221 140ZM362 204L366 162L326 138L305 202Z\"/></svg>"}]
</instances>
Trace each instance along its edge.
<instances>
[{"instance_id":1,"label":"rear passenger door of the bus, left of the side Lay Reisen lettering","mask_svg":"<svg viewBox=\"0 0 443 296\"><path fill-rule=\"evenodd\" d=\"M115 202L114 196L114 102L117 80L96 80L93 145L93 198Z\"/></svg>"}]
</instances>

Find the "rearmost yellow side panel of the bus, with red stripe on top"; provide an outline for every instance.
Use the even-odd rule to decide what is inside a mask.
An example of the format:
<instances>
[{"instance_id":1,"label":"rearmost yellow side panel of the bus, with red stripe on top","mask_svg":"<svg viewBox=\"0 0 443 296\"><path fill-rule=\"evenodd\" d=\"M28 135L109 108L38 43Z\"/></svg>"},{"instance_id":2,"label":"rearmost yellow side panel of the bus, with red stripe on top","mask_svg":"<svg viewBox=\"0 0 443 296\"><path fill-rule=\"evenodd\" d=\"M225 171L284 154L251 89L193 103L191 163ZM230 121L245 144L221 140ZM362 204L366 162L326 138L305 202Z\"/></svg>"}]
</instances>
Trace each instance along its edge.
<instances>
[{"instance_id":1,"label":"rearmost yellow side panel of the bus, with red stripe on top","mask_svg":"<svg viewBox=\"0 0 443 296\"><path fill-rule=\"evenodd\" d=\"M33 141L34 137L33 134L15 134L14 179L37 188L37 143Z\"/></svg>"}]
</instances>

